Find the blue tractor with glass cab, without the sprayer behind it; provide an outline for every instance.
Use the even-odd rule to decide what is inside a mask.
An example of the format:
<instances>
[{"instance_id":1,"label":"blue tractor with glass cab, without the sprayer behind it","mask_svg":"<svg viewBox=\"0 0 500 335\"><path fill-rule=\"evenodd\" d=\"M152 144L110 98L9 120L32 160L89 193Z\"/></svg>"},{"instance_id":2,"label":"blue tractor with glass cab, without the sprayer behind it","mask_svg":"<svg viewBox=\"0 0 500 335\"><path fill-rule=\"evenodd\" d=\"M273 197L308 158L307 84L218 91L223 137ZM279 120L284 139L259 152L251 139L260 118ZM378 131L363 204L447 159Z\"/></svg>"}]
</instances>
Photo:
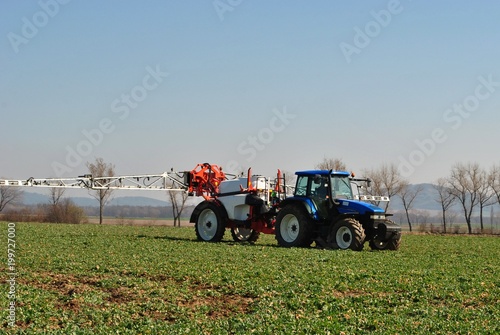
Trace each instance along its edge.
<instances>
[{"instance_id":1,"label":"blue tractor with glass cab, without the sprayer behind it","mask_svg":"<svg viewBox=\"0 0 500 335\"><path fill-rule=\"evenodd\" d=\"M293 196L283 199L275 223L280 246L397 250L401 227L382 208L355 199L348 172L299 171ZM369 179L364 180L369 183Z\"/></svg>"}]
</instances>

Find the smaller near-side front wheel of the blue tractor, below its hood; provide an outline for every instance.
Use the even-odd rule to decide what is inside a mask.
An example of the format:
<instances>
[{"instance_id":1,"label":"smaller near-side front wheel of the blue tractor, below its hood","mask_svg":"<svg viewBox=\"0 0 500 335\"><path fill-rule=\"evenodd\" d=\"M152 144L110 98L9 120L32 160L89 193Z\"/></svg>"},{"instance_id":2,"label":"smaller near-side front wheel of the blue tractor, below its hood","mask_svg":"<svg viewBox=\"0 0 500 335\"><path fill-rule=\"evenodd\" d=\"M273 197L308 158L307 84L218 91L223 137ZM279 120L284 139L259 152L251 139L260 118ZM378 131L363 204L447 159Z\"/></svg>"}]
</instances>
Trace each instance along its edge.
<instances>
[{"instance_id":1,"label":"smaller near-side front wheel of the blue tractor, below its hood","mask_svg":"<svg viewBox=\"0 0 500 335\"><path fill-rule=\"evenodd\" d=\"M333 249L361 251L365 244L365 237L365 230L359 221L345 218L332 226L328 236L328 244Z\"/></svg>"}]
</instances>

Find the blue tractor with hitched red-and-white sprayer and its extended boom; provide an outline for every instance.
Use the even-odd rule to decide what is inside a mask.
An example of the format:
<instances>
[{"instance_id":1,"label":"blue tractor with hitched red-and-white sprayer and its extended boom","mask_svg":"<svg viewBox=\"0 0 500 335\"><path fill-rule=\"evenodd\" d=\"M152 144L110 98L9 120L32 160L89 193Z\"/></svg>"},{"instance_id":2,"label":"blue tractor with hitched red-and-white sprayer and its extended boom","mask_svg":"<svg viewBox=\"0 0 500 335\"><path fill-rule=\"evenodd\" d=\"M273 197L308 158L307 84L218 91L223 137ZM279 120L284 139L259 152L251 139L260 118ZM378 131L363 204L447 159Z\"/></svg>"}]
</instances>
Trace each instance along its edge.
<instances>
[{"instance_id":1,"label":"blue tractor with hitched red-and-white sprayer and its extended boom","mask_svg":"<svg viewBox=\"0 0 500 335\"><path fill-rule=\"evenodd\" d=\"M151 175L0 180L0 187L64 187L120 190L184 191L203 200L193 210L197 239L219 242L226 230L240 242L274 234L280 246L362 250L397 250L401 227L373 203L388 197L362 195L369 179L345 171L305 170L287 185L276 177L228 176L218 165L198 164L191 171Z\"/></svg>"}]
</instances>

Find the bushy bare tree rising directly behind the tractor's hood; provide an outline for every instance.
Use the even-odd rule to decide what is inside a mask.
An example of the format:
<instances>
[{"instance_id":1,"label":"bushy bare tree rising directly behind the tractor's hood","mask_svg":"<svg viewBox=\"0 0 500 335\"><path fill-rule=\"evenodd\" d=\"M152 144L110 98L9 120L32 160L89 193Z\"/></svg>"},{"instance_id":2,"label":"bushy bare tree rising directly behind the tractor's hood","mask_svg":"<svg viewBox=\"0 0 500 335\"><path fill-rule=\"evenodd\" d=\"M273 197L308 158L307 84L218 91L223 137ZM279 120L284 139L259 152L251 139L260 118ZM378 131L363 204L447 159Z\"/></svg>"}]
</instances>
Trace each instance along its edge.
<instances>
[{"instance_id":1,"label":"bushy bare tree rising directly behind the tractor's hood","mask_svg":"<svg viewBox=\"0 0 500 335\"><path fill-rule=\"evenodd\" d=\"M396 164L383 164L378 169L365 170L364 175L372 180L370 195L387 195L393 197L399 194L406 182L399 173ZM380 203L377 203L379 206ZM389 202L385 204L385 210L389 208Z\"/></svg>"}]
</instances>

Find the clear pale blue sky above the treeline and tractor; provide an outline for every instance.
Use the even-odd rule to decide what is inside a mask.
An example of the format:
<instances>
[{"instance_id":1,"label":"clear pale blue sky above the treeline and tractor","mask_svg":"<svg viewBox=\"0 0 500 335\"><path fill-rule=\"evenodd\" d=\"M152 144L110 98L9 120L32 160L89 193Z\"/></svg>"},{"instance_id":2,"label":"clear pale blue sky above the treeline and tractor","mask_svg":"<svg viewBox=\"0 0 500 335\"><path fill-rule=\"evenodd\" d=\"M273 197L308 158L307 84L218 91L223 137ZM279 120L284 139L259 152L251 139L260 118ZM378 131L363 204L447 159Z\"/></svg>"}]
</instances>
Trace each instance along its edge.
<instances>
[{"instance_id":1,"label":"clear pale blue sky above the treeline and tractor","mask_svg":"<svg viewBox=\"0 0 500 335\"><path fill-rule=\"evenodd\" d=\"M499 163L497 1L1 1L0 176ZM231 172L231 171L229 171Z\"/></svg>"}]
</instances>

